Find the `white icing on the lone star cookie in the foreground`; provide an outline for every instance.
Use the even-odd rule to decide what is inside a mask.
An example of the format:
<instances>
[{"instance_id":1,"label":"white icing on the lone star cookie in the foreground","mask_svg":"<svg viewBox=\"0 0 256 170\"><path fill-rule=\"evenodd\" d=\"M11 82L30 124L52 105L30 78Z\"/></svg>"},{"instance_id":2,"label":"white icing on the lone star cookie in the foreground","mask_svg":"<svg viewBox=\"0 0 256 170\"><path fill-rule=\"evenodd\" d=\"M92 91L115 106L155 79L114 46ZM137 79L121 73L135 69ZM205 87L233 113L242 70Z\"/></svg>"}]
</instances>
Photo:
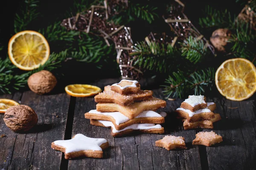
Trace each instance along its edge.
<instances>
[{"instance_id":1,"label":"white icing on the lone star cookie in the foreground","mask_svg":"<svg viewBox=\"0 0 256 170\"><path fill-rule=\"evenodd\" d=\"M65 147L65 152L70 153L81 150L102 150L100 145L106 142L106 139L89 138L83 134L76 134L73 139L54 141L54 144Z\"/></svg>"}]
</instances>

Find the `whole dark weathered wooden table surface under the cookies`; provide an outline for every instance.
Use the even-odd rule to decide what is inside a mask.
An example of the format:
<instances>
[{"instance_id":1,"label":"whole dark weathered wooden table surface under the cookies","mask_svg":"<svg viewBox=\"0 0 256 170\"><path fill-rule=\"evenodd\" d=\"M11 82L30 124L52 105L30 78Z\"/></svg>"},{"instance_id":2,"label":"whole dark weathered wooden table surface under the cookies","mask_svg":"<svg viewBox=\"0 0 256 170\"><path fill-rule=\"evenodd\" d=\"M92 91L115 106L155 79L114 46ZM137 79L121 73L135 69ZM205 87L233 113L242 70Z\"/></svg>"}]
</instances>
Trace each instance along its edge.
<instances>
[{"instance_id":1,"label":"whole dark weathered wooden table surface under the cookies","mask_svg":"<svg viewBox=\"0 0 256 170\"><path fill-rule=\"evenodd\" d=\"M102 79L91 83L103 88L118 82L119 79ZM153 90L154 96L164 99L162 89ZM254 100L243 102L224 98L207 98L215 102L215 113L220 113L221 121L214 124L216 133L223 142L212 147L192 145L195 134L209 129L183 130L182 123L173 117L173 111L183 99L167 100L166 111L169 115L163 124L164 134L134 134L113 138L111 130L90 125L84 113L95 109L93 97L75 98L66 93L37 95L32 91L3 95L0 98L13 99L29 105L38 115L38 125L29 133L14 133L6 127L3 114L0 114L0 169L255 169L256 168L256 118ZM103 159L82 158L66 160L64 154L51 148L51 142L71 139L77 133L88 137L105 138L111 147L104 151ZM168 151L155 146L155 141L165 135L183 136L186 150Z\"/></svg>"}]
</instances>

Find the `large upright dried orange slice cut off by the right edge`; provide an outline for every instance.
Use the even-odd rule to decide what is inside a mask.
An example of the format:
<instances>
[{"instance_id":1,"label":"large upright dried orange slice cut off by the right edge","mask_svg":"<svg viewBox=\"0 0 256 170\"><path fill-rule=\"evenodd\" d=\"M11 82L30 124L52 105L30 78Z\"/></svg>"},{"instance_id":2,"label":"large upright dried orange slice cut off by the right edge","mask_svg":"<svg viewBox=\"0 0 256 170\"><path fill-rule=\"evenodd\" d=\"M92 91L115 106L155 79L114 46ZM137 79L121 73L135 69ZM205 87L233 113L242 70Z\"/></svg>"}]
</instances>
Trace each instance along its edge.
<instances>
[{"instance_id":1,"label":"large upright dried orange slice cut off by the right edge","mask_svg":"<svg viewBox=\"0 0 256 170\"><path fill-rule=\"evenodd\" d=\"M256 91L256 68L247 59L228 59L216 71L215 84L227 99L248 99Z\"/></svg>"}]
</instances>

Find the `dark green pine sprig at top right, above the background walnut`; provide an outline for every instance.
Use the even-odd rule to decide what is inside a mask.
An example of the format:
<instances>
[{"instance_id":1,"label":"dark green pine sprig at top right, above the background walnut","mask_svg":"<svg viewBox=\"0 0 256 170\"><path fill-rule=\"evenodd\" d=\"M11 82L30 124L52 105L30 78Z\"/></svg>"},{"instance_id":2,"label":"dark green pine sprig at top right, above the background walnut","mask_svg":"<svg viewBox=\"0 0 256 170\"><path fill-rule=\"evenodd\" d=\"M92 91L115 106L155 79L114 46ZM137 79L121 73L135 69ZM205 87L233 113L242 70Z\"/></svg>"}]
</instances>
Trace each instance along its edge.
<instances>
[{"instance_id":1,"label":"dark green pine sprig at top right, above the background walnut","mask_svg":"<svg viewBox=\"0 0 256 170\"><path fill-rule=\"evenodd\" d=\"M225 11L218 11L210 6L206 6L204 12L206 17L199 18L199 25L202 28L232 28L235 24L236 17L232 17L227 9Z\"/></svg>"}]
</instances>

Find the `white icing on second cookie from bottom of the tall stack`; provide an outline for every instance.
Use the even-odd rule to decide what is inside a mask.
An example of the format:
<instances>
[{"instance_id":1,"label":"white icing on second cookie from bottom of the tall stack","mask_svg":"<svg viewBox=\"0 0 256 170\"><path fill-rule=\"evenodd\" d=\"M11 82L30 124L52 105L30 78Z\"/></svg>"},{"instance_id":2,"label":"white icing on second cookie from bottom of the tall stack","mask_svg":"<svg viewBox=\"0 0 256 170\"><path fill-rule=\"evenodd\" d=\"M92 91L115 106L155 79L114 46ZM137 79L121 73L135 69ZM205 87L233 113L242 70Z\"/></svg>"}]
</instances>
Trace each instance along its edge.
<instances>
[{"instance_id":1,"label":"white icing on second cookie from bottom of the tall stack","mask_svg":"<svg viewBox=\"0 0 256 170\"><path fill-rule=\"evenodd\" d=\"M111 116L116 120L116 125L119 125L120 123L124 123L130 120L128 117L126 117L120 112L99 112L97 110L91 110L89 111L89 113ZM143 111L138 116L136 116L136 118L140 118L140 117L162 117L162 116L154 111Z\"/></svg>"}]
</instances>

